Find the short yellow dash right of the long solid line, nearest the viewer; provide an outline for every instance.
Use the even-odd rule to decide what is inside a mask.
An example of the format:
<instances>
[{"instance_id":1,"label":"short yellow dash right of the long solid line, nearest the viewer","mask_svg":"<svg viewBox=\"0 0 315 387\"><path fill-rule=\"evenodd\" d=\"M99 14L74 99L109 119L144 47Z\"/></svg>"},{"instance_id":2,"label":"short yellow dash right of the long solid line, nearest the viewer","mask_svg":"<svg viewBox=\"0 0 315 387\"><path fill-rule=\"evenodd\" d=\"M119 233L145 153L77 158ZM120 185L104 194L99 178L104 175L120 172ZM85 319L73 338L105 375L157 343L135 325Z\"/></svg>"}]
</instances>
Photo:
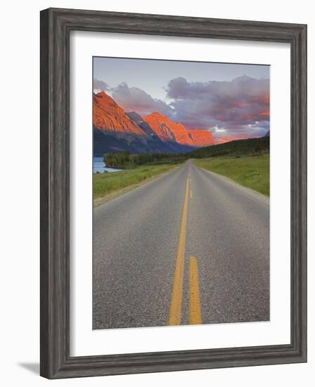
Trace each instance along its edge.
<instances>
[{"instance_id":1,"label":"short yellow dash right of the long solid line, nearest the viewer","mask_svg":"<svg viewBox=\"0 0 315 387\"><path fill-rule=\"evenodd\" d=\"M195 257L191 256L189 266L189 324L203 324L201 319L198 265Z\"/></svg>"}]
</instances>

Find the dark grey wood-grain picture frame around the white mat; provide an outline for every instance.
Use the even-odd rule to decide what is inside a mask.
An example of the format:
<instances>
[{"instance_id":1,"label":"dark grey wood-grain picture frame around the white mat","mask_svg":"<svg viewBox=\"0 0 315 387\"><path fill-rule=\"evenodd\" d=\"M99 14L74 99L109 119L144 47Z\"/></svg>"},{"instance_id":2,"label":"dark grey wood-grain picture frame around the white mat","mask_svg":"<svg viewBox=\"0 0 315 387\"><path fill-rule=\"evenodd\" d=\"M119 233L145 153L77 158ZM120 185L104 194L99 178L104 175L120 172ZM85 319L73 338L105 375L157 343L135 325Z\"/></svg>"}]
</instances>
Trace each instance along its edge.
<instances>
[{"instance_id":1,"label":"dark grey wood-grain picture frame around the white mat","mask_svg":"<svg viewBox=\"0 0 315 387\"><path fill-rule=\"evenodd\" d=\"M291 52L291 341L70 357L70 32L285 42ZM307 361L307 26L75 9L41 11L41 366L49 379ZM285 128L283 128L285 129ZM274 161L276 162L276 161Z\"/></svg>"}]
</instances>

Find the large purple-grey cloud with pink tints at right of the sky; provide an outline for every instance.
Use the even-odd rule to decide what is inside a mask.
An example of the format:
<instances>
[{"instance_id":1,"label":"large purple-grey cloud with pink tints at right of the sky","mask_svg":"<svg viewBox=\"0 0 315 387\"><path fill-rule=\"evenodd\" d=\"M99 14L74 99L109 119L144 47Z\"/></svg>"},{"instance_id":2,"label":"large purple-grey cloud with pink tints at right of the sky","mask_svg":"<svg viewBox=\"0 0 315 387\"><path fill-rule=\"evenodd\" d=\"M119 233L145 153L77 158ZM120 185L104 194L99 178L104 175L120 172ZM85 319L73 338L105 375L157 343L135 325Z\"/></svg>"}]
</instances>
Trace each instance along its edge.
<instances>
[{"instance_id":1,"label":"large purple-grey cloud with pink tints at right of the sky","mask_svg":"<svg viewBox=\"0 0 315 387\"><path fill-rule=\"evenodd\" d=\"M269 129L269 80L188 82L178 77L166 88L173 119L190 128L224 128L226 136L262 136Z\"/></svg>"}]
</instances>

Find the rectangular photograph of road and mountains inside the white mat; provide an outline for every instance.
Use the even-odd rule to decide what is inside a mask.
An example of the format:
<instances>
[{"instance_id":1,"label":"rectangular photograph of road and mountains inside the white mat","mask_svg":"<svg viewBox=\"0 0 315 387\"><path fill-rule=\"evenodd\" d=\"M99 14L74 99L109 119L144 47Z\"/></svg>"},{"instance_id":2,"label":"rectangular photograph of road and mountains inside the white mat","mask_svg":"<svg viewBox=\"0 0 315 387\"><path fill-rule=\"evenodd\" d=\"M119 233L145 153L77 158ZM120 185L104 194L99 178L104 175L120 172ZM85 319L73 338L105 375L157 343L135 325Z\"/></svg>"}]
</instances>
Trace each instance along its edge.
<instances>
[{"instance_id":1,"label":"rectangular photograph of road and mountains inside the white mat","mask_svg":"<svg viewBox=\"0 0 315 387\"><path fill-rule=\"evenodd\" d=\"M93 329L269 322L270 66L92 65Z\"/></svg>"}]
</instances>

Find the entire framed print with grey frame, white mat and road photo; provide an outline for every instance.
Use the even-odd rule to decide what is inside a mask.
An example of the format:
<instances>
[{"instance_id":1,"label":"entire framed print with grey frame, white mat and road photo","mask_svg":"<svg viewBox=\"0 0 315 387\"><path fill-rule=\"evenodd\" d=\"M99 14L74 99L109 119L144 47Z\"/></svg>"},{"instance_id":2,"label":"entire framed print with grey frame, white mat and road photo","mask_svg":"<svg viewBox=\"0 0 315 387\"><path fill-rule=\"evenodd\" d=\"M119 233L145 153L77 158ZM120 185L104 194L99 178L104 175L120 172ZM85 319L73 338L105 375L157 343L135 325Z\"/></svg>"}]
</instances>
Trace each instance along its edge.
<instances>
[{"instance_id":1,"label":"entire framed print with grey frame, white mat and road photo","mask_svg":"<svg viewBox=\"0 0 315 387\"><path fill-rule=\"evenodd\" d=\"M41 376L307 361L307 27L41 11Z\"/></svg>"}]
</instances>

